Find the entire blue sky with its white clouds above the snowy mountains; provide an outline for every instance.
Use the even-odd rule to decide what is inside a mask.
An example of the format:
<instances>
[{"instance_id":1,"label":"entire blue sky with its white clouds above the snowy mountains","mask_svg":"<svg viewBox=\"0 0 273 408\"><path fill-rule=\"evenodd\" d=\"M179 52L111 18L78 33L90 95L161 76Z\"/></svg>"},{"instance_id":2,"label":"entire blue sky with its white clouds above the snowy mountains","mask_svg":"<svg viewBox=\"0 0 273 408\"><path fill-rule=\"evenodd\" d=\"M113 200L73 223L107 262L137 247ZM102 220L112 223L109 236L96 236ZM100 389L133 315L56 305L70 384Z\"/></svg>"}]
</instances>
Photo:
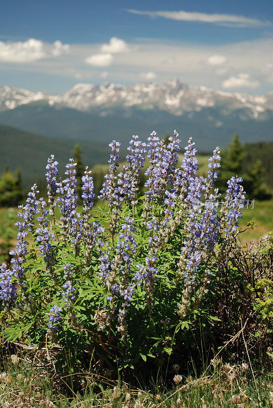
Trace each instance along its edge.
<instances>
[{"instance_id":1,"label":"entire blue sky with its white clouds above the snowy mountains","mask_svg":"<svg viewBox=\"0 0 273 408\"><path fill-rule=\"evenodd\" d=\"M227 92L273 89L270 0L1 2L0 86L65 92L177 77Z\"/></svg>"}]
</instances>

